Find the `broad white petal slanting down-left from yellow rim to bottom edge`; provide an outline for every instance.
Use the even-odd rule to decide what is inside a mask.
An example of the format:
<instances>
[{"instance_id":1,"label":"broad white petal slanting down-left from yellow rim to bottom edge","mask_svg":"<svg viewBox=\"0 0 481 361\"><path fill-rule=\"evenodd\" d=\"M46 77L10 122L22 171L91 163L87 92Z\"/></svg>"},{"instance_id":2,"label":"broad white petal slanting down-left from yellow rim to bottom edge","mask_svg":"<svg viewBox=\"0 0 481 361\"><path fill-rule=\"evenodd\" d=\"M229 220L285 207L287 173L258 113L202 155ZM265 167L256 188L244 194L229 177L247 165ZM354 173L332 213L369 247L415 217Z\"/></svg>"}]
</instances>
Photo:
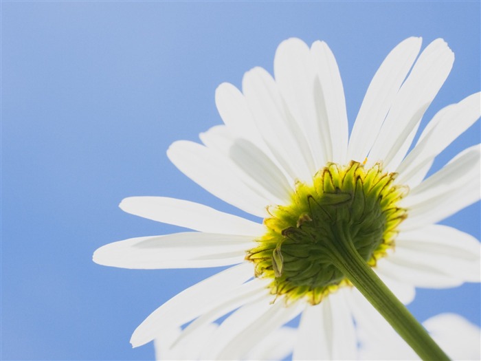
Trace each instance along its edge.
<instances>
[{"instance_id":1,"label":"broad white petal slanting down-left from yellow rim to bottom edge","mask_svg":"<svg viewBox=\"0 0 481 361\"><path fill-rule=\"evenodd\" d=\"M272 296L245 305L229 316L212 336L208 360L238 360L262 341L265 335L280 328L300 313L298 304L286 307L282 302L271 304Z\"/></svg>"}]
</instances>

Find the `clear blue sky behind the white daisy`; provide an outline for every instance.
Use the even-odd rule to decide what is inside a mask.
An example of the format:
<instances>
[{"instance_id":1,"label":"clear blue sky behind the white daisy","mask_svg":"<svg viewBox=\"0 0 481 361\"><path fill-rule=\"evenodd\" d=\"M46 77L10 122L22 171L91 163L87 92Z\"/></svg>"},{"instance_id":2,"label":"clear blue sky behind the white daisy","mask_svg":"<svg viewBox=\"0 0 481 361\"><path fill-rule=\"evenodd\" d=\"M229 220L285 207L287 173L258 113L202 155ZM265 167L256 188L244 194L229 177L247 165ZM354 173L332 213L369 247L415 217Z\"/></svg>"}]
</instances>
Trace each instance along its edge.
<instances>
[{"instance_id":1,"label":"clear blue sky behind the white daisy","mask_svg":"<svg viewBox=\"0 0 481 361\"><path fill-rule=\"evenodd\" d=\"M219 269L122 270L100 246L179 228L128 215L124 197L164 195L243 215L166 157L221 123L214 91L273 68L291 36L333 50L350 127L392 47L444 38L454 68L422 127L480 90L479 1L1 2L1 358L152 360L131 333ZM480 142L480 122L436 163ZM443 221L480 238L479 203ZM480 325L480 285L420 289L419 320L454 311Z\"/></svg>"}]
</instances>

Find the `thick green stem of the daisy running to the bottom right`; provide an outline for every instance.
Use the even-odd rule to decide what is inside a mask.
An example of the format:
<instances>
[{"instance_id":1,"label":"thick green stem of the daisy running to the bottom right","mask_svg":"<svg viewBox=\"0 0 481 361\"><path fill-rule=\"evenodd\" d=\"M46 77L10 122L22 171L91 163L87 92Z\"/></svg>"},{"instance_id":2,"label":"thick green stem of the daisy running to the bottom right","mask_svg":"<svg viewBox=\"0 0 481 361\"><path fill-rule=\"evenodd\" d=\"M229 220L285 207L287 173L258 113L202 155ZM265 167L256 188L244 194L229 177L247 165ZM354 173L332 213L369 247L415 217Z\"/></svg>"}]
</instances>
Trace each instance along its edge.
<instances>
[{"instance_id":1,"label":"thick green stem of the daisy running to the bottom right","mask_svg":"<svg viewBox=\"0 0 481 361\"><path fill-rule=\"evenodd\" d=\"M449 360L446 353L432 340L424 327L412 316L405 305L359 255L353 242L344 232L344 239L331 243L329 253L334 265L374 306L423 360Z\"/></svg>"}]
</instances>

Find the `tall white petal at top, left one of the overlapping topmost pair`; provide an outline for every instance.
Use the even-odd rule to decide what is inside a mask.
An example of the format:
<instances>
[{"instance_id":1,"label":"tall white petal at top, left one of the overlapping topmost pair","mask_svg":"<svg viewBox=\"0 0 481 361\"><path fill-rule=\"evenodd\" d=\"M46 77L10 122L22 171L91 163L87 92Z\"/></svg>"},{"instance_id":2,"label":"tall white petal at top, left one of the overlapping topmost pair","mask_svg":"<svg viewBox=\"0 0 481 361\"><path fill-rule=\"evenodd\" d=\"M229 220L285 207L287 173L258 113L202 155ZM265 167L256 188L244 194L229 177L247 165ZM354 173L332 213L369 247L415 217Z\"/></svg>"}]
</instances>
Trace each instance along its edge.
<instances>
[{"instance_id":1,"label":"tall white petal at top, left one of the overlapping topmost pair","mask_svg":"<svg viewBox=\"0 0 481 361\"><path fill-rule=\"evenodd\" d=\"M309 143L315 166L311 174L314 174L332 157L332 146L331 134L322 134L320 128L328 120L317 116L317 104L324 102L324 98L315 97L314 86L319 80L306 43L295 38L280 43L274 58L274 75L289 111Z\"/></svg>"}]
</instances>

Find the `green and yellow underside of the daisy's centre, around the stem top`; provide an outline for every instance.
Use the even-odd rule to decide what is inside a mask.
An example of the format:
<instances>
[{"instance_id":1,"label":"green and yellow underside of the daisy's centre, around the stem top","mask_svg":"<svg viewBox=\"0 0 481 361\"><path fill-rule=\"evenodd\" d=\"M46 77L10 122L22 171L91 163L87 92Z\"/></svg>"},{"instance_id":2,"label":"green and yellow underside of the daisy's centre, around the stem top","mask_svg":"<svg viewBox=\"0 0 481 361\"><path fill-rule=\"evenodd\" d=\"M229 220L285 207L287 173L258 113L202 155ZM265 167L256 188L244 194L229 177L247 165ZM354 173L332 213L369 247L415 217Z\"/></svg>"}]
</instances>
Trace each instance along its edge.
<instances>
[{"instance_id":1,"label":"green and yellow underside of the daisy's centre, around the stem top","mask_svg":"<svg viewBox=\"0 0 481 361\"><path fill-rule=\"evenodd\" d=\"M366 168L351 161L327 164L312 186L296 182L291 204L269 206L267 233L247 252L256 276L272 278L272 294L287 300L306 297L313 305L349 285L333 263L333 252L339 243L352 243L373 267L394 247L396 228L407 217L396 206L407 188L394 185L394 177L379 163Z\"/></svg>"}]
</instances>

